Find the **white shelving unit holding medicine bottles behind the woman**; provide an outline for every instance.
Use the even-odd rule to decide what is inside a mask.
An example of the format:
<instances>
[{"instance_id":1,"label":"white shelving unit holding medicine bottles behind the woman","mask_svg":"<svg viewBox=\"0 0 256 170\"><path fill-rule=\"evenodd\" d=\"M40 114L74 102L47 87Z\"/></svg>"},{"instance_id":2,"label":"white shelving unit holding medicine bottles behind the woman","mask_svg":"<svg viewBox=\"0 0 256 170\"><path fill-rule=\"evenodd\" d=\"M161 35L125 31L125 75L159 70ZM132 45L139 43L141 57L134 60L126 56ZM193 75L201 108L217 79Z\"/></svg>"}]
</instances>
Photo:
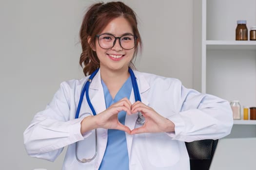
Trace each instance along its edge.
<instances>
[{"instance_id":1,"label":"white shelving unit holding medicine bottles behind the woman","mask_svg":"<svg viewBox=\"0 0 256 170\"><path fill-rule=\"evenodd\" d=\"M256 25L256 0L194 0L194 88L256 106L256 41L236 41L236 20ZM235 120L227 137L256 137L256 120Z\"/></svg>"}]
</instances>

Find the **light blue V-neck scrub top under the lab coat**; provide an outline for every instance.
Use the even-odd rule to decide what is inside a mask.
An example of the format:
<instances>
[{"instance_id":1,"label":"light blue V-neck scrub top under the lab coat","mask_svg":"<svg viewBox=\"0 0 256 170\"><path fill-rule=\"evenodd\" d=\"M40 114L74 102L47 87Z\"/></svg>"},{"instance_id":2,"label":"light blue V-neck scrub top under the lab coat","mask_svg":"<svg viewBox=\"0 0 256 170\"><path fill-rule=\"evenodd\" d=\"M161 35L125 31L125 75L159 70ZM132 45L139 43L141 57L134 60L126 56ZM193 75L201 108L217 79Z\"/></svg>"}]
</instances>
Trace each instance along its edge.
<instances>
[{"instance_id":1,"label":"light blue V-neck scrub top under the lab coat","mask_svg":"<svg viewBox=\"0 0 256 170\"><path fill-rule=\"evenodd\" d=\"M130 98L132 91L132 81L129 77L119 89L115 99L112 99L107 86L101 80L103 86L106 108L122 98ZM118 113L118 120L124 124L125 111ZM107 147L101 161L99 170L129 170L129 156L127 151L126 136L124 131L108 129Z\"/></svg>"}]
</instances>

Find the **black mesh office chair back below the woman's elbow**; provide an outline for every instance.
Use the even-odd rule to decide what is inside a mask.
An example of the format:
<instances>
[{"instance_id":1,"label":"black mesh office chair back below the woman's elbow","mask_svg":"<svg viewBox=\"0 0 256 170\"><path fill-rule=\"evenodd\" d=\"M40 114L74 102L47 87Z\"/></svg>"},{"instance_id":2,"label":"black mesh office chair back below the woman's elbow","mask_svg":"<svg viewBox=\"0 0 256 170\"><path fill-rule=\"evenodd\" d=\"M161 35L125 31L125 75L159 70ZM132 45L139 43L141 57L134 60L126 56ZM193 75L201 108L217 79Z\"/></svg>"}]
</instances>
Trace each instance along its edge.
<instances>
[{"instance_id":1,"label":"black mesh office chair back below the woman's elbow","mask_svg":"<svg viewBox=\"0 0 256 170\"><path fill-rule=\"evenodd\" d=\"M209 170L218 140L185 142L190 158L190 170Z\"/></svg>"}]
</instances>

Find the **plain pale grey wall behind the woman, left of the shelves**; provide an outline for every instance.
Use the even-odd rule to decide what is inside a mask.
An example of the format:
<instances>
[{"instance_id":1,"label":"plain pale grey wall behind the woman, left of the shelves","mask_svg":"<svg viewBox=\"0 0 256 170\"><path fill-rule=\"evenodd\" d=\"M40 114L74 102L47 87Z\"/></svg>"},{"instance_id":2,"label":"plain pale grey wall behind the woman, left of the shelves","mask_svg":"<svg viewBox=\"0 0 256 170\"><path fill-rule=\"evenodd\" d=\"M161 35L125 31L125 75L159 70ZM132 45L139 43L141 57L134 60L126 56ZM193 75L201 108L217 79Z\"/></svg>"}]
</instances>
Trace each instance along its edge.
<instances>
[{"instance_id":1,"label":"plain pale grey wall behind the woman, left of the shelves","mask_svg":"<svg viewBox=\"0 0 256 170\"><path fill-rule=\"evenodd\" d=\"M123 0L139 18L144 43L137 68L176 77L192 87L191 0ZM96 0L0 1L1 169L59 170L54 162L29 157L23 131L50 102L62 81L81 78L79 26Z\"/></svg>"}]
</instances>

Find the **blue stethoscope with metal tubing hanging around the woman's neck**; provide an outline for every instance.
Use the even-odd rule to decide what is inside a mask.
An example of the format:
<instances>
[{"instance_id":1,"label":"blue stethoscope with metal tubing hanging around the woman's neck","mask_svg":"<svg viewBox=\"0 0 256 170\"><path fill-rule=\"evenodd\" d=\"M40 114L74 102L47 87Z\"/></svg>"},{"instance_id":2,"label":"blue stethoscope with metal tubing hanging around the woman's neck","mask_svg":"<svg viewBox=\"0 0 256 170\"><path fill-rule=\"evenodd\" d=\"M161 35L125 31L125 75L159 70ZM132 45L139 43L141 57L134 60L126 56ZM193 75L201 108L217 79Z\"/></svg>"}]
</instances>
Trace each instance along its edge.
<instances>
[{"instance_id":1,"label":"blue stethoscope with metal tubing hanging around the woman's neck","mask_svg":"<svg viewBox=\"0 0 256 170\"><path fill-rule=\"evenodd\" d=\"M75 119L78 119L79 118L79 112L80 112L80 108L81 108L81 104L82 104L82 101L83 101L83 96L84 96L84 93L85 93L85 97L86 97L86 100L88 102L88 105L90 107L90 109L92 110L93 112L93 115L95 116L96 115L96 111L90 101L90 98L89 98L89 86L90 86L90 83L92 82L94 76L96 75L96 73L98 72L99 68L96 69L92 74L91 76L86 80L85 84L83 85L82 87L82 90L81 90L81 94L80 94L80 99L79 99L79 103L78 103L78 108L77 108L77 111L76 111L76 117ZM128 69L129 73L130 73L130 76L131 76L131 80L132 80L132 85L133 85L133 91L134 91L134 96L135 96L135 101L140 101L141 102L141 99L140 99L140 95L139 95L139 91L138 91L138 84L137 84L137 81L136 81L136 77L134 75L134 72L131 68ZM138 113L138 118L136 120L136 123L138 125L143 125L145 123L145 118L143 117L143 115L139 112ZM95 154L93 157L89 158L89 159L85 159L83 158L82 160L79 159L78 157L78 142L76 142L76 158L77 160L80 162L80 163L86 163L86 162L90 162L92 161L96 155L97 155L97 129L95 129Z\"/></svg>"}]
</instances>

